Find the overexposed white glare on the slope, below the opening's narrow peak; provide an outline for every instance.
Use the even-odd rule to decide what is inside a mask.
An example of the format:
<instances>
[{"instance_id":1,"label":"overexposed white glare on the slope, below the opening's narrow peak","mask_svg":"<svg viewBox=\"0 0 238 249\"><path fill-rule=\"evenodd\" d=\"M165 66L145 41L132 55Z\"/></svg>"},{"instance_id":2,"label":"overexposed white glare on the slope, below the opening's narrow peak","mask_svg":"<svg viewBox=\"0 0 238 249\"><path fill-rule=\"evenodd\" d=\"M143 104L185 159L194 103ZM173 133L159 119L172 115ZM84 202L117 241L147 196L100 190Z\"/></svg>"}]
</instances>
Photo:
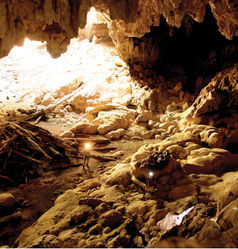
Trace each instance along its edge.
<instances>
[{"instance_id":1,"label":"overexposed white glare on the slope, below the opening's narrow peak","mask_svg":"<svg viewBox=\"0 0 238 249\"><path fill-rule=\"evenodd\" d=\"M26 38L24 46L15 46L0 60L3 90L0 101L7 95L17 103L24 98L24 101L39 104L43 102L35 102L35 99L48 98L45 103L52 104L67 94L60 92L62 88L70 90L73 85L75 89L83 82L77 94L84 99L86 107L119 103L130 93L131 81L127 74L119 77L121 71L128 70L122 61L123 66L117 68L115 60L120 60L115 47L93 44L87 39L79 42L77 38L71 40L64 54L53 59L47 52L46 43Z\"/></svg>"}]
</instances>

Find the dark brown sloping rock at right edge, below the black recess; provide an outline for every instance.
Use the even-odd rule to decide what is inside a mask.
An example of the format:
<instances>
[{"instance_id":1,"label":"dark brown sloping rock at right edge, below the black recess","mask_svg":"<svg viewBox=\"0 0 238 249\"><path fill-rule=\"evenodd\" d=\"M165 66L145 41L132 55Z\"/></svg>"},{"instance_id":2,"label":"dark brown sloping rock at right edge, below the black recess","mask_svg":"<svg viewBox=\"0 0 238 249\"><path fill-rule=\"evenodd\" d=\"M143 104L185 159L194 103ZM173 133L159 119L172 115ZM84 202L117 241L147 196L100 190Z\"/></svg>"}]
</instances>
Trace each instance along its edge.
<instances>
[{"instance_id":1,"label":"dark brown sloping rock at right edge, below the black recess","mask_svg":"<svg viewBox=\"0 0 238 249\"><path fill-rule=\"evenodd\" d=\"M223 70L202 89L186 111L188 118L200 118L201 123L230 129L237 128L238 64Z\"/></svg>"}]
</instances>

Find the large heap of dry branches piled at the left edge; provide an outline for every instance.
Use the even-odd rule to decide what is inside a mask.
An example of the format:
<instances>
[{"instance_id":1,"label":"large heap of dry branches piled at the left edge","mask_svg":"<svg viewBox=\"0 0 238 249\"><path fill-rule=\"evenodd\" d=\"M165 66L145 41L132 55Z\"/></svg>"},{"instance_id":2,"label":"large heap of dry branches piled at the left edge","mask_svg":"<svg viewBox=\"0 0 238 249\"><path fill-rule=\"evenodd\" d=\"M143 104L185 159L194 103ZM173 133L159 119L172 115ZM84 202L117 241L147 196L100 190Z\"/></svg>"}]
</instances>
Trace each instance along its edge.
<instances>
[{"instance_id":1,"label":"large heap of dry branches piled at the left edge","mask_svg":"<svg viewBox=\"0 0 238 249\"><path fill-rule=\"evenodd\" d=\"M24 121L0 120L0 183L8 178L19 183L46 167L70 164L71 156L77 153L78 149L43 128Z\"/></svg>"}]
</instances>

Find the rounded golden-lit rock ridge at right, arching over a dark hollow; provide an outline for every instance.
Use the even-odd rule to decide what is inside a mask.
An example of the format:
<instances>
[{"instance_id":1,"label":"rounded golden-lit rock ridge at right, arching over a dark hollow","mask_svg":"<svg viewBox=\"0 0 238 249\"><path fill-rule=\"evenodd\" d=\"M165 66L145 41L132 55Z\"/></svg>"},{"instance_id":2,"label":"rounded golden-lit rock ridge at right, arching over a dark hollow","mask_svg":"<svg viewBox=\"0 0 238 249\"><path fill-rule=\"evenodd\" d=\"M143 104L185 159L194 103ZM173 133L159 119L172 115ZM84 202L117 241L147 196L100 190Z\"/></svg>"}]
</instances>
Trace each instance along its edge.
<instances>
[{"instance_id":1,"label":"rounded golden-lit rock ridge at right, arching over a dark hollow","mask_svg":"<svg viewBox=\"0 0 238 249\"><path fill-rule=\"evenodd\" d=\"M211 130L211 127L209 126L205 128L203 125L194 125L158 144L141 147L131 159L132 173L136 177L148 175L148 171L151 167L146 167L144 163L143 166L139 166L140 161L144 160L155 151L164 152L165 150L168 150L174 159L179 162L183 170L190 174L221 173L237 168L237 155L232 154L225 149L220 149L219 143L218 147L215 148L213 148L215 145L214 143L210 143L210 148L202 147L202 143L210 141L209 139L206 140L206 136L203 136L209 129L210 131L213 131L213 134L219 134L217 133L219 130L216 130L215 128Z\"/></svg>"}]
</instances>

